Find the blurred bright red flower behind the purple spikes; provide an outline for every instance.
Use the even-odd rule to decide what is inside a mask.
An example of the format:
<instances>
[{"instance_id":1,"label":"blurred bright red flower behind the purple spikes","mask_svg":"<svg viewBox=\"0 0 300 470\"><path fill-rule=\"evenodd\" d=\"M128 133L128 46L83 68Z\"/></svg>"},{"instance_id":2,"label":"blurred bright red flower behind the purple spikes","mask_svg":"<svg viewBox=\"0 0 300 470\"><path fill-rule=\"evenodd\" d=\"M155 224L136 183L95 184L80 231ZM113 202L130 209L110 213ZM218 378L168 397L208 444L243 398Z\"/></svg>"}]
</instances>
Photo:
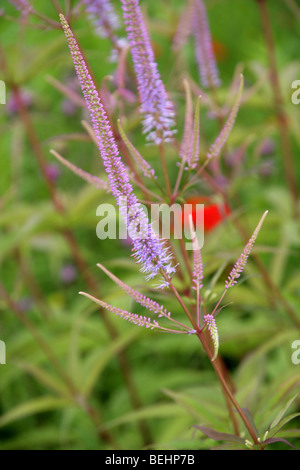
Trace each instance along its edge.
<instances>
[{"instance_id":1,"label":"blurred bright red flower behind the purple spikes","mask_svg":"<svg viewBox=\"0 0 300 470\"><path fill-rule=\"evenodd\" d=\"M182 224L189 226L189 216L192 215L193 224L197 227L197 219L201 220L199 213L201 208L197 208L197 204L204 204L204 231L209 232L219 225L230 214L230 209L226 204L212 202L210 197L194 196L186 199L184 211L182 211ZM198 217L197 217L198 215ZM199 224L198 224L199 225Z\"/></svg>"}]
</instances>

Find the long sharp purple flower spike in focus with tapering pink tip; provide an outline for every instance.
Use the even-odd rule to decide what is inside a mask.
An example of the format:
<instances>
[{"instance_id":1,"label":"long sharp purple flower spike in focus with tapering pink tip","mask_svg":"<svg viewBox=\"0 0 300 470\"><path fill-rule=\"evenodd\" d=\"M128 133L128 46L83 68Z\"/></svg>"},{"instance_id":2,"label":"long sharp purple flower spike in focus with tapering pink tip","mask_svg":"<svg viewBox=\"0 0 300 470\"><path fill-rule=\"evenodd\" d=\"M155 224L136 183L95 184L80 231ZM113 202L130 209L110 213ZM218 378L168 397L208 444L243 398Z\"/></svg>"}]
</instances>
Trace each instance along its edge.
<instances>
[{"instance_id":1,"label":"long sharp purple flower spike in focus with tapering pink tip","mask_svg":"<svg viewBox=\"0 0 300 470\"><path fill-rule=\"evenodd\" d=\"M139 227L139 233L131 237L134 258L138 264L141 264L141 270L146 273L147 279L152 279L161 272L164 272L164 277L170 277L175 272L175 268L171 264L171 255L165 247L164 241L154 232L133 192L126 167L120 158L108 117L100 101L92 77L67 21L63 15L60 15L60 19L69 44L82 92L90 112L93 130L111 191L118 205L121 205L122 201L126 201L126 207L120 207L120 212L124 218L126 227L128 229L132 226ZM165 287L166 285L167 282L164 280L158 287Z\"/></svg>"}]
</instances>

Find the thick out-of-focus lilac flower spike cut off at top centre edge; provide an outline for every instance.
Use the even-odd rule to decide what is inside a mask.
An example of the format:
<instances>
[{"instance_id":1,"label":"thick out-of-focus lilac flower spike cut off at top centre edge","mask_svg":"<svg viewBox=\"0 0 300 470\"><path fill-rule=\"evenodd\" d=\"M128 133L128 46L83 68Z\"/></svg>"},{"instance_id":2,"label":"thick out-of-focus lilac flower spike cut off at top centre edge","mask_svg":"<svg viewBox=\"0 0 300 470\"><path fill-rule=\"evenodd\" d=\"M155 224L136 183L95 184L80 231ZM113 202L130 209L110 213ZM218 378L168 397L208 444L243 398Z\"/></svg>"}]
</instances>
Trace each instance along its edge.
<instances>
[{"instance_id":1,"label":"thick out-of-focus lilac flower spike cut off at top centre edge","mask_svg":"<svg viewBox=\"0 0 300 470\"><path fill-rule=\"evenodd\" d=\"M137 78L143 132L147 140L160 144L174 134L174 105L160 78L150 38L138 0L121 0L127 37Z\"/></svg>"}]
</instances>

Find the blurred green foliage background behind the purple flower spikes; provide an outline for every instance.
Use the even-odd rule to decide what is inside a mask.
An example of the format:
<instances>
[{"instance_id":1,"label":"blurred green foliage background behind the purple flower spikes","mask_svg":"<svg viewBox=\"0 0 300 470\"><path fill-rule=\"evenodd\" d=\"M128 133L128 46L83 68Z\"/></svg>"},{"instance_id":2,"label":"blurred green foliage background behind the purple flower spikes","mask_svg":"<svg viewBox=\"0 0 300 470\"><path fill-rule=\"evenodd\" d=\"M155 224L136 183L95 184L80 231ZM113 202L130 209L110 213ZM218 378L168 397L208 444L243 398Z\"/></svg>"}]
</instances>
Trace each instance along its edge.
<instances>
[{"instance_id":1,"label":"blurred green foliage background behind the purple flower spikes","mask_svg":"<svg viewBox=\"0 0 300 470\"><path fill-rule=\"evenodd\" d=\"M193 425L222 432L232 429L220 387L197 339L144 331L110 314L103 318L78 295L82 290L91 292L94 283L106 302L142 312L96 267L100 262L127 284L163 301L174 317L182 316L168 293L151 291L130 257L129 246L96 237L96 209L113 202L111 196L89 187L50 154L55 149L86 171L103 176L98 150L82 125L88 119L86 111L74 106L57 83L54 86L53 79L79 92L63 32L45 27L33 16L22 23L18 11L4 3L0 79L6 83L7 103L0 105L0 339L5 341L7 357L6 365L0 366L0 449L209 449L214 442L195 433ZM37 11L57 21L52 2L33 3ZM59 3L64 10L65 2ZM112 3L121 16L120 2ZM185 107L182 79L189 75L199 84L193 42L186 44L180 57L172 49L185 2L141 4L161 76L176 103L180 138ZM299 219L284 177L257 2L206 4L222 79L220 104L226 103L238 65L243 66L245 93L251 91L226 150L230 155L250 138L228 192L233 215L250 235L269 210L255 253L279 297L265 285L251 260L244 281L228 294L225 303L230 305L218 316L220 354L238 399L251 410L263 433L299 391L300 364L291 360L291 345L300 340ZM300 3L267 4L299 181L300 105L291 102L291 84L300 79ZM115 94L109 76L116 73L116 63L108 60L109 40L95 34L82 10L72 29L97 84L111 93L112 119L116 122L120 115L127 119L132 141L159 173L157 150L145 145L136 105L124 110ZM25 116L16 106L16 89L26 101ZM217 132L204 103L203 152ZM167 158L174 184L178 154L171 146ZM54 198L65 208L62 213L49 196L39 161L50 172ZM193 194L204 190L200 181ZM205 289L211 305L243 246L232 221L206 235ZM297 402L293 406L297 411ZM299 419L278 436L299 448Z\"/></svg>"}]
</instances>

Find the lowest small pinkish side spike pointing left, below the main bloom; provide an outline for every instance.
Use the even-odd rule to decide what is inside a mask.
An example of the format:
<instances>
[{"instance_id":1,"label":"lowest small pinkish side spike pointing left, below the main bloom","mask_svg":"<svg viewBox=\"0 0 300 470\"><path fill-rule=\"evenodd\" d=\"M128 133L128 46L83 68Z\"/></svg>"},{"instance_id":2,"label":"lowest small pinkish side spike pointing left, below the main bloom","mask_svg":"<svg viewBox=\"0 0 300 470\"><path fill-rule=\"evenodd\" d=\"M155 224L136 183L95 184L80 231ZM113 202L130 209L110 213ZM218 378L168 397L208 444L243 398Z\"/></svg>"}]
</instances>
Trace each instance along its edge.
<instances>
[{"instance_id":1,"label":"lowest small pinkish side spike pointing left, below the main bloom","mask_svg":"<svg viewBox=\"0 0 300 470\"><path fill-rule=\"evenodd\" d=\"M176 334L193 334L194 333L193 330L182 331L182 330L172 330L170 328L165 328L163 326L160 326L156 320L151 320L151 318L149 317L138 315L137 313L131 313L131 312L128 312L127 310L123 310L122 308L114 307L112 305L107 304L106 302L103 302L102 300L97 299L96 297L93 297L90 294L87 294L86 292L79 292L79 294L84 295L88 299L100 305L100 307L105 308L109 312L114 313L117 317L123 318L123 320L127 320L130 323L133 323L134 325L145 326L146 328L150 328L151 330L158 329L161 331L166 331L169 333L176 333Z\"/></svg>"}]
</instances>

